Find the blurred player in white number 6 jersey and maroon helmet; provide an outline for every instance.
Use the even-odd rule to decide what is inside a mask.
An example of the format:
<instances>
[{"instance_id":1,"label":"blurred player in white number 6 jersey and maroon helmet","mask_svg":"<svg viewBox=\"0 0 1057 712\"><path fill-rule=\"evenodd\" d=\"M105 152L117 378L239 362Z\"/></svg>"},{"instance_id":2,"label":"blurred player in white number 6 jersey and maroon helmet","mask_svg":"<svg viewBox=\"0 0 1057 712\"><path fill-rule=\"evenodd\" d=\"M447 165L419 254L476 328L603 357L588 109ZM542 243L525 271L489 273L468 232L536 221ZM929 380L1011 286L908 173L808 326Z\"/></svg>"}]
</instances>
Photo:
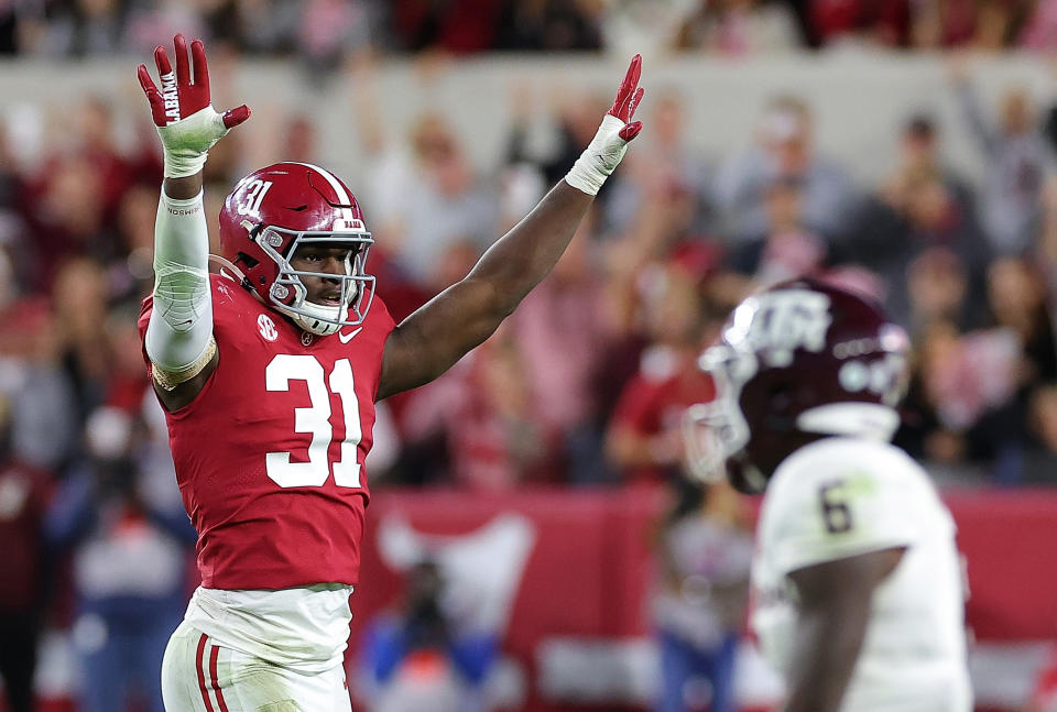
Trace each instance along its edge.
<instances>
[{"instance_id":1,"label":"blurred player in white number 6 jersey and maroon helmet","mask_svg":"<svg viewBox=\"0 0 1057 712\"><path fill-rule=\"evenodd\" d=\"M889 440L906 333L850 292L798 280L749 297L700 368L694 472L764 494L752 627L786 712L969 712L955 524Z\"/></svg>"}]
</instances>

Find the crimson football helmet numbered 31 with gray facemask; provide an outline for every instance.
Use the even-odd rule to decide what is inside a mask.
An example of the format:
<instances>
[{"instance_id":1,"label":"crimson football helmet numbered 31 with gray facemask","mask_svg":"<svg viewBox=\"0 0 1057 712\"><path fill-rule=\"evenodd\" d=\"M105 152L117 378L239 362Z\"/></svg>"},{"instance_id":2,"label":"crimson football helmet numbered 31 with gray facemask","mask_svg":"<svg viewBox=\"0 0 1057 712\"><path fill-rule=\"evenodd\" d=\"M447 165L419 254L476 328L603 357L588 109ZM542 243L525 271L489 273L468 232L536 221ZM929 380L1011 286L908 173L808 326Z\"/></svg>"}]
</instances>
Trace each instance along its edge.
<instances>
[{"instance_id":1,"label":"crimson football helmet numbered 31 with gray facemask","mask_svg":"<svg viewBox=\"0 0 1057 712\"><path fill-rule=\"evenodd\" d=\"M347 247L344 275L294 270L290 259L303 244ZM374 240L348 186L325 168L276 163L235 186L220 210L220 251L227 267L265 304L306 331L329 335L363 321L374 295L364 263ZM302 276L341 280L338 306L305 299Z\"/></svg>"}]
</instances>

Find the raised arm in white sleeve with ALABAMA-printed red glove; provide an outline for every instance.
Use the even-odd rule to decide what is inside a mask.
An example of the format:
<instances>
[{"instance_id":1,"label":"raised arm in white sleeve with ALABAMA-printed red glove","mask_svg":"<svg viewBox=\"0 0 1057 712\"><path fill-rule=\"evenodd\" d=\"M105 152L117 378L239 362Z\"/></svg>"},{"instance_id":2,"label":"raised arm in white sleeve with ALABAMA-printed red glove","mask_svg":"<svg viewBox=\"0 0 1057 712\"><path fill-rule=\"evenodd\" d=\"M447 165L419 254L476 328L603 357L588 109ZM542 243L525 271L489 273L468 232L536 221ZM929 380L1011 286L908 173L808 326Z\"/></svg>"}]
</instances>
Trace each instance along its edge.
<instances>
[{"instance_id":1,"label":"raised arm in white sleeve with ALABAMA-printed red glove","mask_svg":"<svg viewBox=\"0 0 1057 712\"><path fill-rule=\"evenodd\" d=\"M209 149L246 121L246 106L217 113L209 99L209 69L201 42L173 40L176 72L164 47L154 50L162 89L144 65L138 77L162 140L165 182L154 223L154 305L146 328L154 391L170 410L190 403L217 365L209 289L209 235L201 201L201 169Z\"/></svg>"}]
</instances>

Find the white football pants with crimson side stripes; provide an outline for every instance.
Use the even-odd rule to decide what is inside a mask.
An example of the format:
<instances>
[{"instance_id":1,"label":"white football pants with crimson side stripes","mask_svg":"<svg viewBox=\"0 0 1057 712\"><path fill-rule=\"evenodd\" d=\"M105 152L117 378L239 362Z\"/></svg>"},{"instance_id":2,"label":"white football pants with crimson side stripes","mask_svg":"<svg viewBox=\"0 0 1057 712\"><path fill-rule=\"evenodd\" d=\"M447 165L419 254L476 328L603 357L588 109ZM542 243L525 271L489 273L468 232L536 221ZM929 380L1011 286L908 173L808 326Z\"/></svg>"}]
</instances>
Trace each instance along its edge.
<instances>
[{"instance_id":1,"label":"white football pants with crimson side stripes","mask_svg":"<svg viewBox=\"0 0 1057 712\"><path fill-rule=\"evenodd\" d=\"M351 712L344 666L305 673L214 645L181 623L162 661L166 712Z\"/></svg>"}]
</instances>

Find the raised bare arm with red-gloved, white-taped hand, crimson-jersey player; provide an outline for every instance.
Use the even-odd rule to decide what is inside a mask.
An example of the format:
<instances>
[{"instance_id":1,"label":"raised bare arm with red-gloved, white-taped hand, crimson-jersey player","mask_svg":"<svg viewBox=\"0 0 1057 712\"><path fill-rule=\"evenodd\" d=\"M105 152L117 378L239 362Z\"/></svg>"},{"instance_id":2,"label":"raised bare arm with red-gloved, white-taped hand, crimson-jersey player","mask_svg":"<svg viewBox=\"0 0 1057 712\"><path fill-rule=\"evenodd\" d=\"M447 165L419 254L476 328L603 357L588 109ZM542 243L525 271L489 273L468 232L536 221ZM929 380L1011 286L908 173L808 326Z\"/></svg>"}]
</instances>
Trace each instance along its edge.
<instances>
[{"instance_id":1,"label":"raised bare arm with red-gloved, white-taped hand, crimson-jersey player","mask_svg":"<svg viewBox=\"0 0 1057 712\"><path fill-rule=\"evenodd\" d=\"M590 145L543 200L481 256L470 273L404 319L385 342L378 399L433 381L499 327L547 275L598 189L642 129L635 55Z\"/></svg>"}]
</instances>

